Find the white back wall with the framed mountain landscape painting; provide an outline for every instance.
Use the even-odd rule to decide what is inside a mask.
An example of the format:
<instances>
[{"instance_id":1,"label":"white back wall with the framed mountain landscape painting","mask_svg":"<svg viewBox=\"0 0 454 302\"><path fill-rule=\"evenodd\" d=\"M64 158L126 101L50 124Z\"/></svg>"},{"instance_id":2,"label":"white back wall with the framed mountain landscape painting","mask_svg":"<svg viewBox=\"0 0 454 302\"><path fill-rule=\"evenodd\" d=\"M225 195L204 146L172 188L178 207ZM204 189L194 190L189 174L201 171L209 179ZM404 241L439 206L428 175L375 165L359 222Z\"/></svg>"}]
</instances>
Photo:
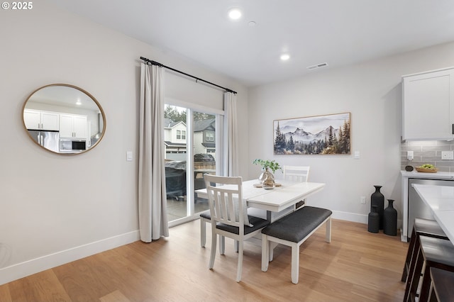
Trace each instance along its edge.
<instances>
[{"instance_id":1,"label":"white back wall with the framed mountain landscape painting","mask_svg":"<svg viewBox=\"0 0 454 302\"><path fill-rule=\"evenodd\" d=\"M250 89L249 162L310 165L309 180L326 188L308 203L345 220L366 223L373 185L382 185L385 198L396 200L401 219L401 76L450 66L454 43ZM343 112L351 113L351 155L273 155L273 120ZM360 160L353 159L354 151L360 151ZM260 174L260 167L249 163L249 168L250 179ZM366 205L360 196L366 196Z\"/></svg>"}]
</instances>

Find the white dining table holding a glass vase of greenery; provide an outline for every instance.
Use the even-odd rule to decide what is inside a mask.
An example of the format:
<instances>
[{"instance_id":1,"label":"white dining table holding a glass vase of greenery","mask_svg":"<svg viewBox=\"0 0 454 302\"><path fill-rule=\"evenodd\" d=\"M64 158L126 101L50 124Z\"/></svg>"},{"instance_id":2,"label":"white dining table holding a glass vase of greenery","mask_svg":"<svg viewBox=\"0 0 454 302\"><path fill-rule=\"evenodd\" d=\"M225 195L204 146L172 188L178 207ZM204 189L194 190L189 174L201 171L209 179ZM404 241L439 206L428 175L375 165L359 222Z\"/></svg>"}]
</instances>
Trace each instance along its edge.
<instances>
[{"instance_id":1,"label":"white dining table holding a glass vase of greenery","mask_svg":"<svg viewBox=\"0 0 454 302\"><path fill-rule=\"evenodd\" d=\"M304 198L321 191L325 184L319 182L295 182L277 179L274 189L258 187L258 180L243 181L243 201L249 208L267 211L267 219L273 220L271 212L282 212ZM196 190L197 196L207 198L206 189Z\"/></svg>"}]
</instances>

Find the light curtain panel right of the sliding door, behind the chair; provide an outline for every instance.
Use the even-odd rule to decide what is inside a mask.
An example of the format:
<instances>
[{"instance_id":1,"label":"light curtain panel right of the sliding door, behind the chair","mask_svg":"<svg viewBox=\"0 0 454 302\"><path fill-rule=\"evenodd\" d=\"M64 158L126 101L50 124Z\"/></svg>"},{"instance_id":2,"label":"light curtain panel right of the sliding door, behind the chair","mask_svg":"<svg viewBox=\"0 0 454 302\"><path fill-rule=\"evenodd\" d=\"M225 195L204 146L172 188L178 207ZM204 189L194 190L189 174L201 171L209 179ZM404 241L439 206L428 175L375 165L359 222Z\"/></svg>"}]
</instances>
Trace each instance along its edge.
<instances>
[{"instance_id":1,"label":"light curtain panel right of the sliding door, behind the chair","mask_svg":"<svg viewBox=\"0 0 454 302\"><path fill-rule=\"evenodd\" d=\"M238 175L238 122L236 118L236 94L224 93L224 163L225 176Z\"/></svg>"}]
</instances>

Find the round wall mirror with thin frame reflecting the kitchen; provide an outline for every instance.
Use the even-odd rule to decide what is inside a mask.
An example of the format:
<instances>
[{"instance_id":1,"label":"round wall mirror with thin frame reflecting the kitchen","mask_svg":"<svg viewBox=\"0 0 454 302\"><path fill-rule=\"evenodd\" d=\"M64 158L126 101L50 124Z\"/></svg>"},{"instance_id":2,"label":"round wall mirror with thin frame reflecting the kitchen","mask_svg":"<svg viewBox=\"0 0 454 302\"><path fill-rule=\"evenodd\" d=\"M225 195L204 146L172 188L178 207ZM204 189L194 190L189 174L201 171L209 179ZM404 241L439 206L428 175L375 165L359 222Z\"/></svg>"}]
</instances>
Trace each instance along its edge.
<instances>
[{"instance_id":1,"label":"round wall mirror with thin frame reflecting the kitchen","mask_svg":"<svg viewBox=\"0 0 454 302\"><path fill-rule=\"evenodd\" d=\"M28 96L23 124L33 141L46 150L74 155L96 146L106 130L98 101L84 89L50 84Z\"/></svg>"}]
</instances>

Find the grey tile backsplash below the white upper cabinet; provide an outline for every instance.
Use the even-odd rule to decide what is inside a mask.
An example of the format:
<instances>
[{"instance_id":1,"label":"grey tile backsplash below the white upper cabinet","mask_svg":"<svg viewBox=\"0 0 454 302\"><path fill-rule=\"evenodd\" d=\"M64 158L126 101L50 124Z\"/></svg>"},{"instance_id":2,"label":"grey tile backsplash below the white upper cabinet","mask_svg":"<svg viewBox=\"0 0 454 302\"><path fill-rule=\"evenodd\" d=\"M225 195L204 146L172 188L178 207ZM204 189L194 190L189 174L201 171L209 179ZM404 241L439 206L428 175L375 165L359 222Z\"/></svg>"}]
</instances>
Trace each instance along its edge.
<instances>
[{"instance_id":1,"label":"grey tile backsplash below the white upper cabinet","mask_svg":"<svg viewBox=\"0 0 454 302\"><path fill-rule=\"evenodd\" d=\"M454 140L419 140L406 141L401 145L401 169L406 165L413 167L421 164L433 164L440 172L454 172L454 160L441 160L441 151L454 150ZM406 159L406 152L413 151L411 162Z\"/></svg>"}]
</instances>

